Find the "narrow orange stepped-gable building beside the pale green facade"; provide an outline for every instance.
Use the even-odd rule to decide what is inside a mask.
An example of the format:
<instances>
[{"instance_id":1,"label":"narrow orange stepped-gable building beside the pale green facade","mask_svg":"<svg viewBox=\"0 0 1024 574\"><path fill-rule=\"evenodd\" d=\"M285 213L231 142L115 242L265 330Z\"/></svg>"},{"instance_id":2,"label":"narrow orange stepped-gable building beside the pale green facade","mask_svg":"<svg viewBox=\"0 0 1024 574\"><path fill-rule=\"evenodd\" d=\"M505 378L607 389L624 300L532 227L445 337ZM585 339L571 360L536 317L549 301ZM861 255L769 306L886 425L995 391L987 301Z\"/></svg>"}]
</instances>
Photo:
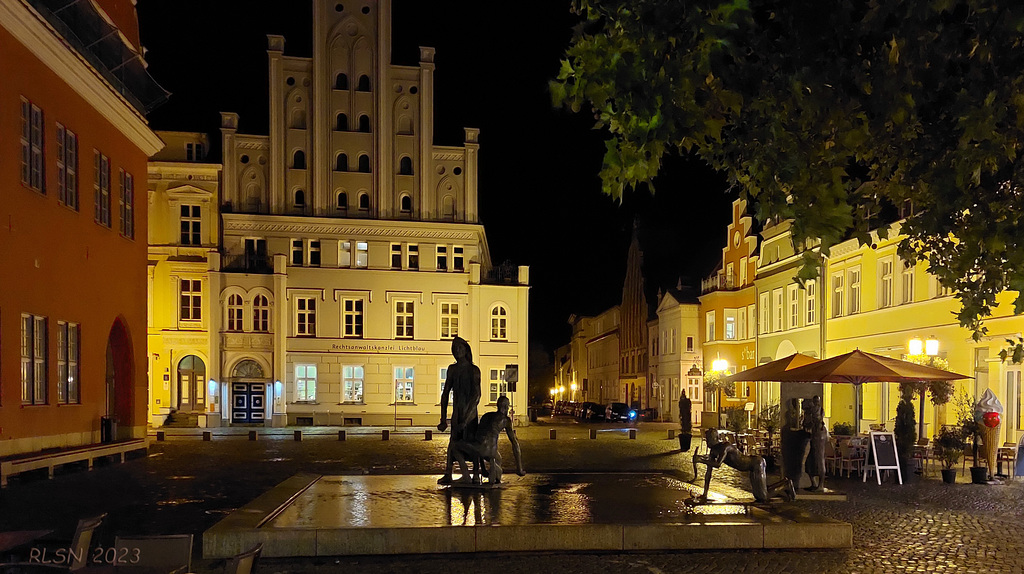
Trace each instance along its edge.
<instances>
[{"instance_id":1,"label":"narrow orange stepped-gable building beside the pale green facade","mask_svg":"<svg viewBox=\"0 0 1024 574\"><path fill-rule=\"evenodd\" d=\"M746 215L746 202L742 200L732 203L732 220L726 240L721 266L700 285L699 318L705 373L714 369L715 361L726 361L725 370L730 373L757 365L754 274L758 239L753 219ZM741 407L754 401L755 394L754 385L737 383L734 396L721 397L720 406ZM712 393L706 395L705 411L716 411L719 397ZM708 416L707 420L713 417Z\"/></svg>"}]
</instances>

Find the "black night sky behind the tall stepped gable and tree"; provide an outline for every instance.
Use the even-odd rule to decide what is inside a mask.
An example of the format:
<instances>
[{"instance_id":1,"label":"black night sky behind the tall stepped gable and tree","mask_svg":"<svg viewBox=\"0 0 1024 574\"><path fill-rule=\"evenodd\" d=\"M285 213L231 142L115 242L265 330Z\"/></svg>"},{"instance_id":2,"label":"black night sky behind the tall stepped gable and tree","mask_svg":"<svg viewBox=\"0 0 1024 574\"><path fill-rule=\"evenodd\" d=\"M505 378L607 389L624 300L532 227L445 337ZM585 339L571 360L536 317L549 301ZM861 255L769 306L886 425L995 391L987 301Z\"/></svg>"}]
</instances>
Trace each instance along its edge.
<instances>
[{"instance_id":1,"label":"black night sky behind the tall stepped gable and tree","mask_svg":"<svg viewBox=\"0 0 1024 574\"><path fill-rule=\"evenodd\" d=\"M312 51L306 0L140 0L137 10L150 73L172 92L150 117L155 129L219 142L219 112L236 112L241 132L265 134L266 35L285 36L287 55ZM435 143L460 145L464 127L481 130L479 208L492 258L530 266L531 347L548 351L567 342L571 313L621 301L635 215L648 280L675 285L684 275L699 285L721 257L731 202L721 178L680 158L668 162L653 198L635 193L618 205L601 193L606 133L591 129L592 116L554 108L547 89L575 21L566 0L392 4L393 63L415 65L418 46L437 49Z\"/></svg>"}]
</instances>

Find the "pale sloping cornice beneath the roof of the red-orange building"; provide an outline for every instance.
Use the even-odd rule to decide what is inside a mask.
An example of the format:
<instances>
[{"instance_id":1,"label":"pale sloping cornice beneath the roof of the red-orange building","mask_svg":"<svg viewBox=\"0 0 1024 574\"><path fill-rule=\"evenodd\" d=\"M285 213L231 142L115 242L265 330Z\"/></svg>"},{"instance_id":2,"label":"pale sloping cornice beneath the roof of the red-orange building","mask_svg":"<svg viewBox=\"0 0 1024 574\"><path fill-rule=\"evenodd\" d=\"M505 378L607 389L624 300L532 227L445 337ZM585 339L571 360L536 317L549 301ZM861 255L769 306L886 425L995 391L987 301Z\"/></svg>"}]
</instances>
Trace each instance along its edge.
<instances>
[{"instance_id":1,"label":"pale sloping cornice beneath the roof of the red-orange building","mask_svg":"<svg viewBox=\"0 0 1024 574\"><path fill-rule=\"evenodd\" d=\"M163 140L150 129L145 119L24 0L0 2L0 27L10 32L15 40L52 70L146 157L163 149Z\"/></svg>"}]
</instances>

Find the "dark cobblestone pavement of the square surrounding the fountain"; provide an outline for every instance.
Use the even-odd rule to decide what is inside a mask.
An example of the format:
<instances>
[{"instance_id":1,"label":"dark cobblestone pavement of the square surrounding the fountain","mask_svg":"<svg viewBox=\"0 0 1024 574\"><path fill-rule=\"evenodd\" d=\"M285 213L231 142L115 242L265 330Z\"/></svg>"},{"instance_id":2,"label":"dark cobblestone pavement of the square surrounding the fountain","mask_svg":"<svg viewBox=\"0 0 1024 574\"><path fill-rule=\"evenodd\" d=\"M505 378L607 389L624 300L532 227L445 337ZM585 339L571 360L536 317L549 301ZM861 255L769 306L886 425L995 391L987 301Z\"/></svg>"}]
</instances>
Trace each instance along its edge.
<instances>
[{"instance_id":1,"label":"dark cobblestone pavement of the square surrounding the fountain","mask_svg":"<svg viewBox=\"0 0 1024 574\"><path fill-rule=\"evenodd\" d=\"M557 429L557 440L548 438L551 428ZM599 429L597 440L589 439L591 428ZM682 471L690 476L689 456L667 439L671 428L640 424L637 440L610 426L540 425L517 432L528 472ZM58 534L70 534L79 518L108 513L100 543L110 543L116 534L191 532L199 538L224 515L298 472L438 473L447 444L446 434L435 433L432 441L425 441L422 430L401 430L387 442L380 439L379 430L350 432L344 442L337 440L336 429L305 431L302 442L292 440L291 430L261 435L257 442L234 434L237 430L220 431L211 442L172 435L166 442L155 442L147 456L125 465L97 463L91 473L58 471L52 481L45 474L14 479L0 491L0 529L55 528ZM1024 480L977 486L958 477L958 484L944 485L937 475L881 487L873 479L830 479L828 486L846 491L849 501L800 502L852 523L855 547L849 550L275 559L261 562L259 571L1024 572ZM715 488L727 494L745 484L731 471L715 476ZM215 571L219 566L199 561L198 570Z\"/></svg>"}]
</instances>

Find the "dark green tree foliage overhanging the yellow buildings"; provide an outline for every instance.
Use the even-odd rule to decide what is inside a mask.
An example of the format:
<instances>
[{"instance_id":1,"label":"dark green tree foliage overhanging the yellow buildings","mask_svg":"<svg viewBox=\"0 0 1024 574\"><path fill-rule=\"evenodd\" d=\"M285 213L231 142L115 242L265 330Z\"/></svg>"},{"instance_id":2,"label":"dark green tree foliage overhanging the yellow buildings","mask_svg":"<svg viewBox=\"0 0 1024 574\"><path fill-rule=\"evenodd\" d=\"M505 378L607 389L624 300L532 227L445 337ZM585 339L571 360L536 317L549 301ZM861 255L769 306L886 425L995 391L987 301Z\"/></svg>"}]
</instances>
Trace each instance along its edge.
<instances>
[{"instance_id":1,"label":"dark green tree foliage overhanging the yellow buildings","mask_svg":"<svg viewBox=\"0 0 1024 574\"><path fill-rule=\"evenodd\" d=\"M885 234L912 203L899 253L928 262L976 338L996 295L1024 292L1024 4L574 0L573 9L583 21L551 91L611 133L605 192L650 185L667 153L695 154L759 220L792 219L798 246L820 239L824 254ZM804 252L801 279L817 274L817 257Z\"/></svg>"}]
</instances>

